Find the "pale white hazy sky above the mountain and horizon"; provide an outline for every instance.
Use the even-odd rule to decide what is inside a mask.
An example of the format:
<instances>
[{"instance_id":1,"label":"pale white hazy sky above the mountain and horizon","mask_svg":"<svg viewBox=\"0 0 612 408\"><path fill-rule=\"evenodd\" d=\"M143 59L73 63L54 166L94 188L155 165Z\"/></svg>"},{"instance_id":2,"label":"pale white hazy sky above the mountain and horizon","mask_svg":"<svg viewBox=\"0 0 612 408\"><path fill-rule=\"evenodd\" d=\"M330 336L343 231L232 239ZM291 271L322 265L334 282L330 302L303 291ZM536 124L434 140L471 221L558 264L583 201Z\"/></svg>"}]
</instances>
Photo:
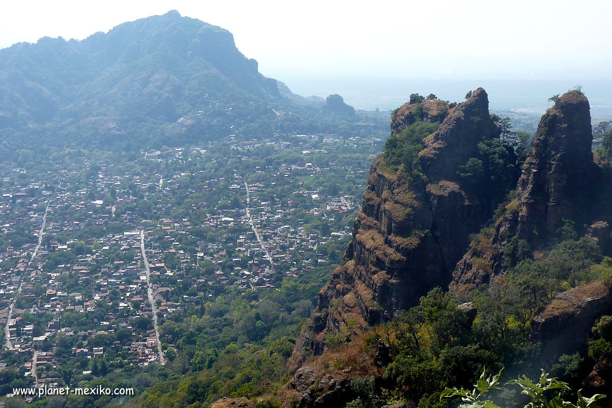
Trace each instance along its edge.
<instances>
[{"instance_id":1,"label":"pale white hazy sky above the mountain and horizon","mask_svg":"<svg viewBox=\"0 0 612 408\"><path fill-rule=\"evenodd\" d=\"M612 78L609 0L3 1L0 48L171 9L230 30L281 80Z\"/></svg>"}]
</instances>

